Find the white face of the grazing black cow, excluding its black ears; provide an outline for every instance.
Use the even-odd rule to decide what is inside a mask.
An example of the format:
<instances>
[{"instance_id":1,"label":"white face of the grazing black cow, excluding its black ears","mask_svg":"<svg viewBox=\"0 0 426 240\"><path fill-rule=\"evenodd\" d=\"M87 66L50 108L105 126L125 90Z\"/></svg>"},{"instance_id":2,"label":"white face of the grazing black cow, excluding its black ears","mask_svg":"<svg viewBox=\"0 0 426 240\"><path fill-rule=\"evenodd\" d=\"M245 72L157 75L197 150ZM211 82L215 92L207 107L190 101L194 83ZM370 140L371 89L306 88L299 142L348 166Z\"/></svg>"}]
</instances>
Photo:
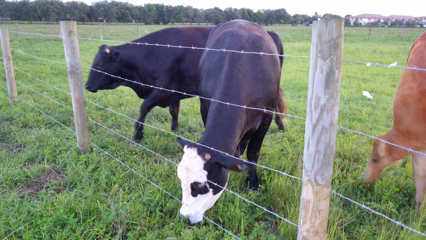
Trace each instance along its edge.
<instances>
[{"instance_id":1,"label":"white face of the grazing black cow, excluding its black ears","mask_svg":"<svg viewBox=\"0 0 426 240\"><path fill-rule=\"evenodd\" d=\"M223 176L223 169L217 166L210 166L207 161L210 155L207 153L203 157L199 156L198 150L192 147L184 147L184 156L178 165L178 177L182 186L182 207L181 217L187 217L191 224L199 223L203 220L204 212L210 209L223 192L223 188L215 186L209 173L219 171ZM216 168L216 169L215 169ZM189 171L188 171L189 170ZM217 184L225 186L228 182L229 171L226 179L216 181ZM213 182L213 181L212 181ZM218 189L219 188L219 189ZM215 190L215 191L214 191Z\"/></svg>"}]
</instances>

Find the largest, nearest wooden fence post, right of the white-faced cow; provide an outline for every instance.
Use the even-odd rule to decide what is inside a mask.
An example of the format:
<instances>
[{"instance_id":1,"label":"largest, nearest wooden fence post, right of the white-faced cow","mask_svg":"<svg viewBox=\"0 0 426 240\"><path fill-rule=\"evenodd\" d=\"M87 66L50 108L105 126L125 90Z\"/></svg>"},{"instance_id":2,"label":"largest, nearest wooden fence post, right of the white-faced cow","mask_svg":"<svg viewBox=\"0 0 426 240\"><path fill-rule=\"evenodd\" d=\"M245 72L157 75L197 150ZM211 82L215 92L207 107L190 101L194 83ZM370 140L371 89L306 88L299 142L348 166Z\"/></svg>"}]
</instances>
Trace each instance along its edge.
<instances>
[{"instance_id":1,"label":"largest, nearest wooden fence post, right of the white-faced cow","mask_svg":"<svg viewBox=\"0 0 426 240\"><path fill-rule=\"evenodd\" d=\"M298 240L325 240L336 148L344 20L314 21Z\"/></svg>"}]
</instances>

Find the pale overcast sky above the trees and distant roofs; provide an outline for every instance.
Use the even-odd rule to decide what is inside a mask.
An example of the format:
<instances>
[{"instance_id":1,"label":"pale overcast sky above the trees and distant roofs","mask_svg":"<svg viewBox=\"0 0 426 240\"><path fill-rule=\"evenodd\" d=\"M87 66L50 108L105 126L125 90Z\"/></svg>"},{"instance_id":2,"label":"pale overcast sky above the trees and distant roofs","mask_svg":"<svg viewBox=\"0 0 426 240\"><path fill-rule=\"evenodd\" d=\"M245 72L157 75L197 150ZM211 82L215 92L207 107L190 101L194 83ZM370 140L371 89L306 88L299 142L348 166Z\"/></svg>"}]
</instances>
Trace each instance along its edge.
<instances>
[{"instance_id":1,"label":"pale overcast sky above the trees and distant roofs","mask_svg":"<svg viewBox=\"0 0 426 240\"><path fill-rule=\"evenodd\" d=\"M91 4L93 0L83 0ZM193 6L198 9L209 9L215 6L220 9L227 7L258 9L280 9L284 8L291 15L308 14L315 12L322 15L325 13L337 14L344 17L347 14L352 16L369 13L389 15L409 15L413 17L426 16L426 0L396 1L396 0L149 0L138 1L128 0L134 5L144 5L145 3L163 3L164 5Z\"/></svg>"}]
</instances>

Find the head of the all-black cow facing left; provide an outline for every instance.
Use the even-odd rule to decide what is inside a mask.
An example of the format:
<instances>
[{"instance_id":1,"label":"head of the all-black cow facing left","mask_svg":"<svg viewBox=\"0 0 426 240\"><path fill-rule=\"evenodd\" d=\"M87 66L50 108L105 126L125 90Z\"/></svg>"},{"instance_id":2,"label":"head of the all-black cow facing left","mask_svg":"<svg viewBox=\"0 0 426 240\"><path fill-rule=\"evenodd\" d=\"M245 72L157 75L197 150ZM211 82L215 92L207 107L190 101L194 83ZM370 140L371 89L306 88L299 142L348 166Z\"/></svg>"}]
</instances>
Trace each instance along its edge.
<instances>
[{"instance_id":1,"label":"head of the all-black cow facing left","mask_svg":"<svg viewBox=\"0 0 426 240\"><path fill-rule=\"evenodd\" d=\"M120 51L107 45L100 46L98 54L93 60L92 68L101 72L90 70L89 79L84 85L89 92L95 93L98 90L115 89L122 85L121 79L103 73L107 72L115 76L121 75Z\"/></svg>"}]
</instances>

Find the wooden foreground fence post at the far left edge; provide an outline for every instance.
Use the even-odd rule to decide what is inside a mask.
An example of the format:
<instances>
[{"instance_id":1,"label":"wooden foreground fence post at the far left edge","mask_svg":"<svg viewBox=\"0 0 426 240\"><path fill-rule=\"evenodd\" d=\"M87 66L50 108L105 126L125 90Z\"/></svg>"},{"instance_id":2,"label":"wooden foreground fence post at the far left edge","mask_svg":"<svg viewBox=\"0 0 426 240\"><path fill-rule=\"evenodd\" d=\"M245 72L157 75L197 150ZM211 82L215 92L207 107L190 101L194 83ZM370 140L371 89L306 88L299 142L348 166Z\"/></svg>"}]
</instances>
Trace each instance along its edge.
<instances>
[{"instance_id":1,"label":"wooden foreground fence post at the far left edge","mask_svg":"<svg viewBox=\"0 0 426 240\"><path fill-rule=\"evenodd\" d=\"M10 52L9 32L7 27L0 27L1 50L3 53L3 64L6 72L7 91L9 92L9 103L15 104L18 99L16 93L15 73L13 70L12 53Z\"/></svg>"}]
</instances>

